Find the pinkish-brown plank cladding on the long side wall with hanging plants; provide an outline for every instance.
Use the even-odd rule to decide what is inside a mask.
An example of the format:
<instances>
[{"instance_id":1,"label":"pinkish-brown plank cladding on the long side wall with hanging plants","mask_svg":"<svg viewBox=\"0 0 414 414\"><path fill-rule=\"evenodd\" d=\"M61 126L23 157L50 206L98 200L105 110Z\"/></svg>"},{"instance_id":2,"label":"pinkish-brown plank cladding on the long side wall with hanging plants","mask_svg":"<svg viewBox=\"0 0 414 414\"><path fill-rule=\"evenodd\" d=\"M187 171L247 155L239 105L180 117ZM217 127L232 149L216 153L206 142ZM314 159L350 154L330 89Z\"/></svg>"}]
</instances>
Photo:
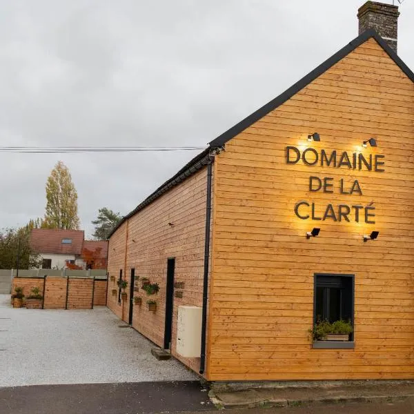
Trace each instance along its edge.
<instances>
[{"instance_id":1,"label":"pinkish-brown plank cladding on the long side wall with hanging plants","mask_svg":"<svg viewBox=\"0 0 414 414\"><path fill-rule=\"evenodd\" d=\"M161 197L126 221L109 240L108 272L115 281L108 282L108 306L128 322L130 286L126 301L118 302L116 279L119 270L130 282L135 268L134 296L141 305L133 305L132 326L158 346L164 346L166 314L167 261L175 258L175 282L181 297L174 297L171 353L194 371L199 371L199 358L184 358L176 352L178 306L201 306L203 298L204 241L206 232L206 183L204 167L174 186ZM147 295L142 279L159 284L159 293ZM177 291L177 290L176 290ZM157 311L148 311L148 300L157 302Z\"/></svg>"}]
</instances>

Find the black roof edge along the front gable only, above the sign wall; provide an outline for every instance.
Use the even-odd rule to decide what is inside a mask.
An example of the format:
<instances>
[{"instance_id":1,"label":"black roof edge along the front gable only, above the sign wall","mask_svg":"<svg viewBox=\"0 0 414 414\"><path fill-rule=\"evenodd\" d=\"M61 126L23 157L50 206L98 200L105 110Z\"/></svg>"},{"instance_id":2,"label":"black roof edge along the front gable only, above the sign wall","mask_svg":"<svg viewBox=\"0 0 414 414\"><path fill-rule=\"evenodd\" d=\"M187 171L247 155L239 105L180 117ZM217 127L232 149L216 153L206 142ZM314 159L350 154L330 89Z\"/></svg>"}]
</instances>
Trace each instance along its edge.
<instances>
[{"instance_id":1,"label":"black roof edge along the front gable only, above the sign wall","mask_svg":"<svg viewBox=\"0 0 414 414\"><path fill-rule=\"evenodd\" d=\"M210 147L216 148L224 146L227 141L230 141L230 139L234 138L240 132L259 121L259 119L262 119L265 115L268 115L269 112L275 110L278 106L282 105L282 103L285 103L288 99L293 97L293 95L296 95L299 90L302 90L305 86L308 86L309 83L321 76L324 72L326 72L326 70L334 66L335 63L338 63L341 59L353 52L353 50L355 50L358 46L361 46L362 43L365 43L368 39L371 39L371 37L380 43L382 48L384 48L384 50L388 53L389 57L391 57L391 59L393 59L393 61L400 66L400 69L411 79L411 81L414 82L414 73L388 46L386 41L384 41L384 39L382 39L382 37L380 37L375 30L366 30L366 32L360 34L356 39L351 41L351 43L348 43L348 45L339 50L339 52L335 53L335 55L324 61L322 65L319 65L316 69L295 83L295 85L283 92L282 95L279 95L277 98L266 103L266 105L253 112L252 115L249 115L247 118L243 119L243 121L239 122L239 124L236 124L216 139L213 139L213 141L210 142Z\"/></svg>"}]
</instances>

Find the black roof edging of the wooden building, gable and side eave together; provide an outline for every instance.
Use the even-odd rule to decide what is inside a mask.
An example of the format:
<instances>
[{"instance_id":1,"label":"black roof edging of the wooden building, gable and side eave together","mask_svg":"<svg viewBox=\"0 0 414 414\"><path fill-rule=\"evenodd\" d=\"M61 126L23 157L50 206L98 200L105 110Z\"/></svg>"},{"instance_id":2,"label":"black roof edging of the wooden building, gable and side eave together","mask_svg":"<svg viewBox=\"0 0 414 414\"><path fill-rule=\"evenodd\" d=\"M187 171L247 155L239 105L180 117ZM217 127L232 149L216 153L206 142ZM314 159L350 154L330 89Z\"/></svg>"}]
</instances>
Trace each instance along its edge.
<instances>
[{"instance_id":1,"label":"black roof edging of the wooden building, gable and side eave together","mask_svg":"<svg viewBox=\"0 0 414 414\"><path fill-rule=\"evenodd\" d=\"M322 65L319 65L316 69L314 69L312 72L310 72L308 75L303 77L300 81L295 83L295 85L291 86L282 93L282 95L279 95L277 98L273 99L272 101L266 103L266 105L262 106L262 108L259 108L257 111L253 112L252 115L249 115L247 118L243 119L243 121L239 122L239 124L236 124L223 134L219 135L216 139L213 139L213 141L210 142L210 148L207 148L201 154L197 155L197 157L193 158L184 168L181 168L177 174L170 178L168 181L166 181L162 186L157 188L154 193L150 195L150 197L146 198L137 208L132 210L128 215L126 215L119 224L112 230L112 233L110 233L109 237L115 233L117 228L121 226L121 224L124 223L128 218L135 215L135 213L138 213L139 210L144 208L145 206L148 206L152 201L157 199L160 195L165 193L167 190L169 190L171 187L176 186L181 181L186 179L186 177L192 175L195 171L202 168L202 166L208 164L210 162L208 154L209 151L213 148L219 148L221 146L224 146L226 142L230 141L230 139L234 138L236 135L238 135L240 132L244 131L249 126L253 125L255 122L259 121L259 119L262 119L264 116L266 116L269 112L275 110L278 106L282 105L282 103L286 102L288 99L293 97L293 95L296 95L299 90L302 90L307 86L309 83L314 81L317 77L322 75L326 70L331 68L335 65L335 63L338 63L341 59L349 55L353 50L355 50L358 46L361 46L362 43L365 43L368 39L375 39L378 43L380 43L380 46L388 53L389 57L395 61L397 66L400 67L400 69L411 79L411 81L414 82L414 73L411 71L408 66L400 59L400 57L397 56L397 54L388 46L386 41L380 37L375 30L366 30L366 32L360 34L356 39L351 41L351 43L348 43L344 48L339 50L339 52L335 53L332 57L330 57L328 60L324 61ZM109 238L108 237L108 238Z\"/></svg>"}]
</instances>

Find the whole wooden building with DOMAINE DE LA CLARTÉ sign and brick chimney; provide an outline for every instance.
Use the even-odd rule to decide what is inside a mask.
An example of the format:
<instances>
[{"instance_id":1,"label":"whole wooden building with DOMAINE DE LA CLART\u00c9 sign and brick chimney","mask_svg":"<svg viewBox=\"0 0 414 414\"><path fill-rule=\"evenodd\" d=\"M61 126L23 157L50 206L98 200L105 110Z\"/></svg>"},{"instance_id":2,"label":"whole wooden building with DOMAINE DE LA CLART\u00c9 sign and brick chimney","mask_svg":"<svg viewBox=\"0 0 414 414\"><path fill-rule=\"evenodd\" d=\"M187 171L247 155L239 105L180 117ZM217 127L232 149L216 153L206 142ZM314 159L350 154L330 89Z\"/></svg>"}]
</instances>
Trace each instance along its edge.
<instances>
[{"instance_id":1,"label":"whole wooden building with DOMAINE DE LA CLART\u00c9 sign and brick chimney","mask_svg":"<svg viewBox=\"0 0 414 414\"><path fill-rule=\"evenodd\" d=\"M414 378L414 74L397 10L368 1L357 39L110 236L109 274L130 286L122 300L112 280L108 306L207 380ZM200 310L195 356L183 306ZM353 333L313 340L317 317Z\"/></svg>"}]
</instances>

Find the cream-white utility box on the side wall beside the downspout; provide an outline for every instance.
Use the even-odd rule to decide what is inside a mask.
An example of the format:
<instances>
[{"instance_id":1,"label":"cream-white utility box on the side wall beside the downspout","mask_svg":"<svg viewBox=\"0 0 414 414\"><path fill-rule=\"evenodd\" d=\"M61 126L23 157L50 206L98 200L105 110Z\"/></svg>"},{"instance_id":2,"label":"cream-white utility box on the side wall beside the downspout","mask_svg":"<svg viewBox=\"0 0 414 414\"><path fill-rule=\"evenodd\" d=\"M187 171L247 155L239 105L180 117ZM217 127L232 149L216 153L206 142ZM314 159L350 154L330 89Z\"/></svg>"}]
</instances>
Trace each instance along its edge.
<instances>
[{"instance_id":1,"label":"cream-white utility box on the side wall beside the downspout","mask_svg":"<svg viewBox=\"0 0 414 414\"><path fill-rule=\"evenodd\" d=\"M183 357L200 357L202 313L199 306L178 307L177 353Z\"/></svg>"}]
</instances>

